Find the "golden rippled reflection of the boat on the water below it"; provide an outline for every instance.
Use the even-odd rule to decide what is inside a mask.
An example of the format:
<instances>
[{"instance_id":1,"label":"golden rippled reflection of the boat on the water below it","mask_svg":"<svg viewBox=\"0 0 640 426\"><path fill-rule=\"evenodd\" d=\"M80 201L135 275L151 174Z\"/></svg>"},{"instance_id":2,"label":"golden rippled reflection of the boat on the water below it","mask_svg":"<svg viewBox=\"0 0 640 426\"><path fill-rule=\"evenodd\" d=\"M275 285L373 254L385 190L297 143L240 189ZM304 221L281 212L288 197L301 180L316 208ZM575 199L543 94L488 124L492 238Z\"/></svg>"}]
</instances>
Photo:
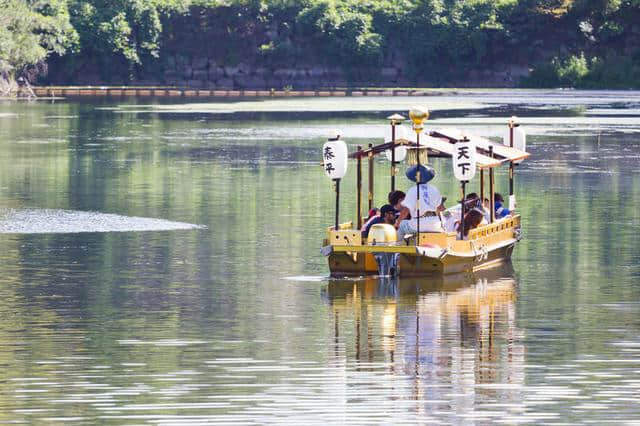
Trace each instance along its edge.
<instances>
[{"instance_id":1,"label":"golden rippled reflection of the boat on the water below it","mask_svg":"<svg viewBox=\"0 0 640 426\"><path fill-rule=\"evenodd\" d=\"M332 280L324 295L336 350L339 343L348 359L388 363L393 371L419 376L425 386L471 377L475 386L523 380L516 293L513 270L505 264L420 279Z\"/></svg>"}]
</instances>

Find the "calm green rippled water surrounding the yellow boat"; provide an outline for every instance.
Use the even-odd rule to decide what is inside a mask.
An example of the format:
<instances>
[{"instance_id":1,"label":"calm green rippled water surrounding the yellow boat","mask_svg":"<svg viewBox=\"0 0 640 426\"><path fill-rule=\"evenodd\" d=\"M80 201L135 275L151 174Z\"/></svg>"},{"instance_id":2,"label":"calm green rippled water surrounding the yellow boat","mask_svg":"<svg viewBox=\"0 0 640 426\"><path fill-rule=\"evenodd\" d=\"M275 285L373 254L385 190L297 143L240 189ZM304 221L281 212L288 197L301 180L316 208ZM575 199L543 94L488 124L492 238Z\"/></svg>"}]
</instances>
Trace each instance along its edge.
<instances>
[{"instance_id":1,"label":"calm green rippled water surrounding the yellow boat","mask_svg":"<svg viewBox=\"0 0 640 426\"><path fill-rule=\"evenodd\" d=\"M485 273L328 279L321 146L413 105L520 117L524 238ZM342 189L354 220L353 164ZM639 236L638 92L5 101L0 423L637 423Z\"/></svg>"}]
</instances>

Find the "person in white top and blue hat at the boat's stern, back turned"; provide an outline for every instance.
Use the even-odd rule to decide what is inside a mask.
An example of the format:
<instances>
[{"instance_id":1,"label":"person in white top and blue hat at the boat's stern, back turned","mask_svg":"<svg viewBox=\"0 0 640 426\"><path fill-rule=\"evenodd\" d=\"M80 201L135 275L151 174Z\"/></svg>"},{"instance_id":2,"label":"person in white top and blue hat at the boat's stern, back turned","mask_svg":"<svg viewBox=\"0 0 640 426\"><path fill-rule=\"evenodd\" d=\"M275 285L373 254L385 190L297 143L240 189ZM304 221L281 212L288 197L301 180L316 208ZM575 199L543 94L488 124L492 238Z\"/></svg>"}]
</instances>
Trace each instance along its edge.
<instances>
[{"instance_id":1,"label":"person in white top and blue hat at the boat's stern, back turned","mask_svg":"<svg viewBox=\"0 0 640 426\"><path fill-rule=\"evenodd\" d=\"M420 221L420 232L444 232L439 215L444 210L442 196L435 186L428 184L436 175L433 167L428 164L418 164L409 167L406 175L417 185L412 185L407 190L407 195L402 201L406 210L403 210L404 214L398 218L399 239L402 240L405 235L418 232L418 221ZM407 213L411 214L411 219L404 219L408 216Z\"/></svg>"}]
</instances>

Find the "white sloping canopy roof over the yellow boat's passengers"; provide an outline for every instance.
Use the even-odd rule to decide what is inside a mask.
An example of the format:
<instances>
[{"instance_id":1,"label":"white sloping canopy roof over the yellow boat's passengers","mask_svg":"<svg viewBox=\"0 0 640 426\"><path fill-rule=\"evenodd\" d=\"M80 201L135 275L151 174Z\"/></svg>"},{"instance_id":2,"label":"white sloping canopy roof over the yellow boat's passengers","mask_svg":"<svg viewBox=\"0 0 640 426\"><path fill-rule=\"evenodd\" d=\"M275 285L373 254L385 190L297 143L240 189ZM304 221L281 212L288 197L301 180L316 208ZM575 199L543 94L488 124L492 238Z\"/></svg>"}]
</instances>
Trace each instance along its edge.
<instances>
[{"instance_id":1,"label":"white sloping canopy roof over the yellow boat's passengers","mask_svg":"<svg viewBox=\"0 0 640 426\"><path fill-rule=\"evenodd\" d=\"M426 149L432 157L451 157L455 151L455 143L467 137L476 145L476 164L480 169L497 167L511 161L522 161L529 157L529 153L501 143L490 141L479 136L468 135L459 129L438 129L427 132L420 137L420 149ZM396 145L405 145L408 149L418 149L415 141L396 139ZM392 142L385 142L365 150L356 151L349 156L358 158L377 155L393 147ZM493 156L491 156L493 153Z\"/></svg>"}]
</instances>

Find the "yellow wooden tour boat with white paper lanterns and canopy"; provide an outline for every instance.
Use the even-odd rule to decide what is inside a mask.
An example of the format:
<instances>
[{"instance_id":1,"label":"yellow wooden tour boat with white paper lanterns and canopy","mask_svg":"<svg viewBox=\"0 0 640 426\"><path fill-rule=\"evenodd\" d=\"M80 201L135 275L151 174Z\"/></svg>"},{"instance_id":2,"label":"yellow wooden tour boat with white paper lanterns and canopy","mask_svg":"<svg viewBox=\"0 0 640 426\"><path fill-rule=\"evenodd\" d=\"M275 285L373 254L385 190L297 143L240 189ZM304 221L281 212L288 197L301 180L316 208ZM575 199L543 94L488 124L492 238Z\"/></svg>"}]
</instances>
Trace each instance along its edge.
<instances>
[{"instance_id":1,"label":"yellow wooden tour boat with white paper lanterns and canopy","mask_svg":"<svg viewBox=\"0 0 640 426\"><path fill-rule=\"evenodd\" d=\"M509 167L509 202L511 207L515 205L513 193L514 165L529 157L525 148L524 131L516 123L515 117L508 121L508 132L505 143L496 143L488 139L465 134L455 129L440 129L423 133L423 121L428 118L428 113L419 109L409 112L413 122L413 130L416 132L414 140L403 137L395 137L396 126L401 123L402 116L389 117L391 122L391 141L372 146L367 149L359 149L348 154L348 158L356 161L356 226L353 222L340 223L338 220L340 179L346 172L346 157L344 164L334 161L336 156L329 160L325 156L325 172L336 183L336 220L334 226L327 230L322 254L327 257L331 276L361 276L361 275L398 275L420 276L433 273L451 274L465 271L476 271L483 268L508 261L516 243L521 238L520 215L513 214L501 219L495 216L493 208L495 194L494 170L496 167ZM330 139L325 144L324 152L336 153L336 142L341 142L339 136ZM343 142L344 143L344 142ZM466 170L465 176L473 177L475 171L480 173L480 199L485 198L485 178L488 175L489 188L486 197L490 200L490 220L484 225L468 231L466 237L461 232L420 232L406 239L399 240L396 229L392 225L376 224L369 231L368 238L361 236L362 231L362 163L369 163L369 208L373 199L373 163L374 157L391 152L391 189L394 189L397 162L394 156L398 147L404 147L409 152L410 163L428 163L429 156L452 158L454 164L460 157L459 149L471 147L473 152L473 170ZM327 149L332 149L327 151ZM341 149L346 150L346 145ZM344 153L343 153L344 155ZM459 160L458 160L459 163ZM338 169L338 174L331 172ZM419 176L419 175L418 175ZM466 179L462 176L463 179ZM459 178L460 179L460 178ZM462 192L464 199L465 184L462 180ZM418 191L419 193L419 191ZM461 207L461 216L464 217L464 207ZM418 215L420 217L420 215Z\"/></svg>"}]
</instances>

